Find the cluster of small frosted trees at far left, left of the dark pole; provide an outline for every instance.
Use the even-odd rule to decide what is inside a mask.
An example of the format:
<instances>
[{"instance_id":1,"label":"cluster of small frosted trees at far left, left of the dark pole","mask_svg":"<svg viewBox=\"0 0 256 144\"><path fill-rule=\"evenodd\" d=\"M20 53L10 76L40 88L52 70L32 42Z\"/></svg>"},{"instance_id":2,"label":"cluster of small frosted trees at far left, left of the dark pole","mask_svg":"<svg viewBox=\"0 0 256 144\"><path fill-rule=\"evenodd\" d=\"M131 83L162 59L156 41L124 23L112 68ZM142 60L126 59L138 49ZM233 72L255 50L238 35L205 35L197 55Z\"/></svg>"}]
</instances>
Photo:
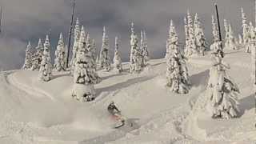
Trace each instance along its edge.
<instances>
[{"instance_id":1,"label":"cluster of small frosted trees at far left, left of the dark pole","mask_svg":"<svg viewBox=\"0 0 256 144\"><path fill-rule=\"evenodd\" d=\"M22 69L39 70L39 78L45 82L50 81L53 69L56 71L66 70L67 50L62 34L60 34L58 46L55 51L54 66L51 64L50 50L51 46L48 35L46 35L44 44L42 44L41 39L38 40L38 46L36 46L34 50L32 49L32 46L29 42L26 48L25 62L22 66Z\"/></svg>"}]
</instances>

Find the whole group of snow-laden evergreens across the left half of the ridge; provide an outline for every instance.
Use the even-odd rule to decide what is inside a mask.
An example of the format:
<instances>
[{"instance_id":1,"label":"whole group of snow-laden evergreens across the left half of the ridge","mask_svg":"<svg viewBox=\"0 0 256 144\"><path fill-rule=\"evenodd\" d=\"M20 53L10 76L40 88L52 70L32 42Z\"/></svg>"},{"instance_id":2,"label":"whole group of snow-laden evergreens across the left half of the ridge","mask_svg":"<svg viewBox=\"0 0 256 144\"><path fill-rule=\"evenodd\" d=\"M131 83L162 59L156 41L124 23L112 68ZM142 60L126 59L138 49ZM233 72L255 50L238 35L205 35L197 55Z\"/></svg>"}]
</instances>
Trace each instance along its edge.
<instances>
[{"instance_id":1,"label":"whole group of snow-laden evergreens across the left half of the ridge","mask_svg":"<svg viewBox=\"0 0 256 144\"><path fill-rule=\"evenodd\" d=\"M132 24L132 34L130 39L130 73L139 73L143 67L148 66L149 53L147 50L146 32L141 33L141 43L138 47L138 37L134 32ZM102 48L98 58L95 40L86 33L84 26L80 26L77 19L74 26L74 45L70 63L67 62L67 48L64 37L59 36L58 46L55 50L54 65L50 59L50 39L46 35L44 44L39 39L38 46L32 49L30 42L26 48L26 57L23 70L39 70L39 79L43 82L49 82L53 76L52 71L62 72L70 71L74 78L72 96L79 101L92 101L95 98L94 84L101 82L97 70L111 70L110 62L110 44L106 34L106 27L103 27ZM122 58L119 52L119 40L115 37L113 70L117 73L122 72Z\"/></svg>"}]
</instances>

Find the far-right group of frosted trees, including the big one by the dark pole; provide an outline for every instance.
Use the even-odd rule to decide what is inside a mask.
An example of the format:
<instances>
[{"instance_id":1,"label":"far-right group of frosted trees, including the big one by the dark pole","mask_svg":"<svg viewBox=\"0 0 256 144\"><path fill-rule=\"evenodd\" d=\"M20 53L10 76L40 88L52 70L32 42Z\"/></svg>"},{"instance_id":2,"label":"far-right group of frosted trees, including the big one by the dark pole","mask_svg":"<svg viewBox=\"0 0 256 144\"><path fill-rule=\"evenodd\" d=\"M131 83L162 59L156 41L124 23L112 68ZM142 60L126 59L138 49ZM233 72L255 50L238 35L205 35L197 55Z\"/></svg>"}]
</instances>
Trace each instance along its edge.
<instances>
[{"instance_id":1,"label":"far-right group of frosted trees, including the big one by the dark pole","mask_svg":"<svg viewBox=\"0 0 256 144\"><path fill-rule=\"evenodd\" d=\"M223 41L225 50L238 50L244 48L246 53L251 53L253 63L253 74L255 78L255 42L256 30L252 22L246 22L246 14L241 8L242 13L242 34L238 34L236 38L230 23L224 19L225 39ZM213 64L210 69L210 79L208 90L210 91L210 106L213 118L237 118L239 116L238 109L238 86L232 78L227 74L230 66L223 61L219 51L222 43L218 40L218 29L213 17L213 35L214 43L211 45L211 50L214 50ZM255 80L254 80L255 81Z\"/></svg>"}]
</instances>

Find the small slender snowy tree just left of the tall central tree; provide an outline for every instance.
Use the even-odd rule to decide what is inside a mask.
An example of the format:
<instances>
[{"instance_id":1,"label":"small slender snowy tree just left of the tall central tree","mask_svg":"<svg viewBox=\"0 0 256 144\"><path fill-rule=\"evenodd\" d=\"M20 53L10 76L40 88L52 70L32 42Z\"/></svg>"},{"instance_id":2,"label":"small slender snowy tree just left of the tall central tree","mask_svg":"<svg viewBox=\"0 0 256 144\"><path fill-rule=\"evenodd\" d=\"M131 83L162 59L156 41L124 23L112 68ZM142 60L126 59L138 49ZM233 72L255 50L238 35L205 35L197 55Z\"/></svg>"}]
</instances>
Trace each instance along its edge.
<instances>
[{"instance_id":1,"label":"small slender snowy tree just left of the tall central tree","mask_svg":"<svg viewBox=\"0 0 256 144\"><path fill-rule=\"evenodd\" d=\"M122 72L122 59L119 53L119 42L118 42L118 37L115 37L114 41L114 70L118 71L118 73Z\"/></svg>"}]
</instances>

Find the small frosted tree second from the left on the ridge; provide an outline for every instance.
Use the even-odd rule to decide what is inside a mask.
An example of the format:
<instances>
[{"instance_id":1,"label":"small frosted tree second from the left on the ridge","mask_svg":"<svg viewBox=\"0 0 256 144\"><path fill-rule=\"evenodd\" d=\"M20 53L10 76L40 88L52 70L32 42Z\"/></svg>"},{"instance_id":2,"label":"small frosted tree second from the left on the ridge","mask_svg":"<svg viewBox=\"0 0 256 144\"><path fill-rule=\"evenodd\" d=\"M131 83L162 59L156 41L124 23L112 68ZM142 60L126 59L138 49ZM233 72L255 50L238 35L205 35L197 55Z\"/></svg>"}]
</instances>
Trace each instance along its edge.
<instances>
[{"instance_id":1,"label":"small frosted tree second from the left on the ridge","mask_svg":"<svg viewBox=\"0 0 256 144\"><path fill-rule=\"evenodd\" d=\"M43 54L44 48L42 46L42 41L40 38L38 40L38 46L35 49L36 51L33 54L33 62L32 62L31 70L39 70L42 62L42 54Z\"/></svg>"}]
</instances>

